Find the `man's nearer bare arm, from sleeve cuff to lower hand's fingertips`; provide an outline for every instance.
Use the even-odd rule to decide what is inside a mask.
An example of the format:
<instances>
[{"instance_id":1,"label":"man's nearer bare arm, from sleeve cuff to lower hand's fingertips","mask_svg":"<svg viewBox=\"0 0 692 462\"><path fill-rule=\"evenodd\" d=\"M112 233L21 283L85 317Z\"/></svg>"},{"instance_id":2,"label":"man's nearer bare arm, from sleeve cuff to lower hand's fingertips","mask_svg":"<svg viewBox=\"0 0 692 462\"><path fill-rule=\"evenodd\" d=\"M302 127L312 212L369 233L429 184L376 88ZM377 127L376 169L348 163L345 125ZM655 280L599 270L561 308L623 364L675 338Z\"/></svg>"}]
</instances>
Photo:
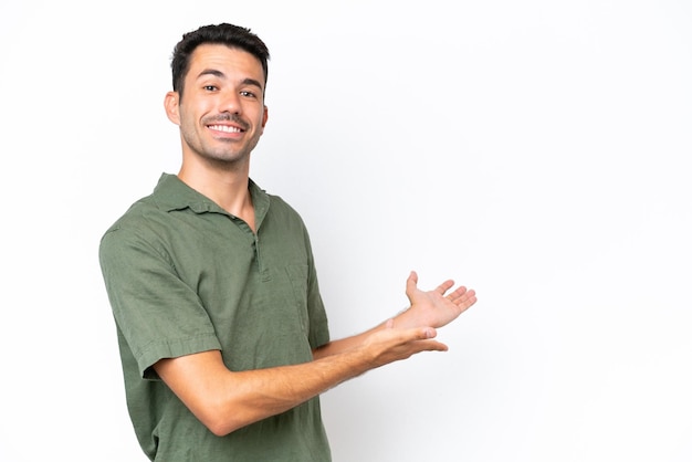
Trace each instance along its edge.
<instances>
[{"instance_id":1,"label":"man's nearer bare arm, from sleeve cuff to lower hand's fingertips","mask_svg":"<svg viewBox=\"0 0 692 462\"><path fill-rule=\"evenodd\" d=\"M229 370L219 350L161 359L159 377L195 416L217 435L228 434L266 417L289 410L336 385L370 369L420 351L445 350L432 340L430 327L373 332L355 347L310 363Z\"/></svg>"}]
</instances>

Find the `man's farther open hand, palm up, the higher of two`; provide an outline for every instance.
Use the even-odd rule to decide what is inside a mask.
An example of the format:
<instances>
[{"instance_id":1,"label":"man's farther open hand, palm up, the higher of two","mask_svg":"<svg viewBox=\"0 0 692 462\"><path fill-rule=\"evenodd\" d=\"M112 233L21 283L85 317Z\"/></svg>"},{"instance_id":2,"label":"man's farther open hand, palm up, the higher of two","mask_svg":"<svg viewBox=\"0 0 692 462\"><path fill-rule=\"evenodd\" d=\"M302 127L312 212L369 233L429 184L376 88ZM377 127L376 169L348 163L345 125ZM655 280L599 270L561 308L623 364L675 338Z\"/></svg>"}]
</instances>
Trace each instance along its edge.
<instances>
[{"instance_id":1,"label":"man's farther open hand, palm up, the higher of two","mask_svg":"<svg viewBox=\"0 0 692 462\"><path fill-rule=\"evenodd\" d=\"M406 296L411 307L397 316L397 325L402 327L442 327L475 303L475 291L460 286L444 295L454 286L454 281L448 280L437 288L423 292L418 288L418 274L411 271L406 281Z\"/></svg>"}]
</instances>

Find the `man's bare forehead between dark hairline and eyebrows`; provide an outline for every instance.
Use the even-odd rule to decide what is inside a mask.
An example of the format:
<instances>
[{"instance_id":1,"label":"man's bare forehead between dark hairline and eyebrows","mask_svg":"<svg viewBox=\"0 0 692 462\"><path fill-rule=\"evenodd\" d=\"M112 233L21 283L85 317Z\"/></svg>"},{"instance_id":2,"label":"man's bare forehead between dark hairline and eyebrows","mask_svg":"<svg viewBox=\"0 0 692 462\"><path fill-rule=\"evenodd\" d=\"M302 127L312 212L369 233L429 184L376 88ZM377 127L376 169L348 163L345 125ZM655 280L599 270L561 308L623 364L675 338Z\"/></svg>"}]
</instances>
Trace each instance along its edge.
<instances>
[{"instance_id":1,"label":"man's bare forehead between dark hairline and eyebrows","mask_svg":"<svg viewBox=\"0 0 692 462\"><path fill-rule=\"evenodd\" d=\"M199 45L190 56L190 67L186 78L197 80L209 71L220 73L226 78L252 78L264 82L262 63L244 50L223 44Z\"/></svg>"}]
</instances>

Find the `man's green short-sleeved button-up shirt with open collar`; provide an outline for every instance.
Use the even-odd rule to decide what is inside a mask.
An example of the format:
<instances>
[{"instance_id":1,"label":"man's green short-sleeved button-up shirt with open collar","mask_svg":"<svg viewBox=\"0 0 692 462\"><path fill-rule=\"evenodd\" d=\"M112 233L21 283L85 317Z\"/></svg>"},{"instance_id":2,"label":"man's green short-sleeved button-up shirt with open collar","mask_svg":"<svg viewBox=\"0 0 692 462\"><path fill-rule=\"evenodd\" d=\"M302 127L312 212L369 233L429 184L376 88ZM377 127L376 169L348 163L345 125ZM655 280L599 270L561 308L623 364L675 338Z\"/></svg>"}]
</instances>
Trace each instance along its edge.
<instances>
[{"instance_id":1,"label":"man's green short-sleeved button-up shirt with open collar","mask_svg":"<svg viewBox=\"0 0 692 462\"><path fill-rule=\"evenodd\" d=\"M318 397L216 437L151 368L210 349L235 371L300 364L328 342L301 217L252 180L249 189L256 234L164 174L102 238L128 411L153 461L331 460Z\"/></svg>"}]
</instances>

